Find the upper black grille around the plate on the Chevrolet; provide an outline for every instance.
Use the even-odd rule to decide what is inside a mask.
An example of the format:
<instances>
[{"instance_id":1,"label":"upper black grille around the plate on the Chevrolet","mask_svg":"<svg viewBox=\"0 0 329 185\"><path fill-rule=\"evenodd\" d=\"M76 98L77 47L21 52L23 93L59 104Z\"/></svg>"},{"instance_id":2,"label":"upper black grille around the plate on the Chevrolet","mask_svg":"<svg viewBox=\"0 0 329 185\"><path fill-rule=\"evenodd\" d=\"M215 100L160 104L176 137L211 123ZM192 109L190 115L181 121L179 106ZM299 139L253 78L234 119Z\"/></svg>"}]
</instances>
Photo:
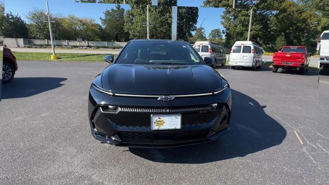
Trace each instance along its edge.
<instances>
[{"instance_id":1,"label":"upper black grille around the plate on the Chevrolet","mask_svg":"<svg viewBox=\"0 0 329 185\"><path fill-rule=\"evenodd\" d=\"M221 106L218 106L221 108ZM118 107L115 114L108 113L106 117L117 126L123 127L150 127L152 114L181 114L181 125L198 125L210 123L218 118L222 109L210 110L210 107L190 107L190 108L133 108Z\"/></svg>"}]
</instances>

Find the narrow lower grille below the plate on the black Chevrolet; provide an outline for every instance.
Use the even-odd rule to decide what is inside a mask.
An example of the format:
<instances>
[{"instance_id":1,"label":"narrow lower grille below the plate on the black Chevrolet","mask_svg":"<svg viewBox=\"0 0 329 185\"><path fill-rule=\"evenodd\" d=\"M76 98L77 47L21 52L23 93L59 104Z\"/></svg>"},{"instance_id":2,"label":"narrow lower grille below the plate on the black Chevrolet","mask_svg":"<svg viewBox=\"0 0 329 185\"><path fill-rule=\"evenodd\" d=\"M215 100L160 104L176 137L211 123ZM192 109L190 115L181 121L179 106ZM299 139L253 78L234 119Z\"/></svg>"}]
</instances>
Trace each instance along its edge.
<instances>
[{"instance_id":1,"label":"narrow lower grille below the plate on the black Chevrolet","mask_svg":"<svg viewBox=\"0 0 329 185\"><path fill-rule=\"evenodd\" d=\"M153 132L153 133L131 133L123 132L119 133L119 137L124 139L161 139L161 140L175 140L175 139L201 139L206 138L209 130L194 130L176 133L166 132Z\"/></svg>"}]
</instances>

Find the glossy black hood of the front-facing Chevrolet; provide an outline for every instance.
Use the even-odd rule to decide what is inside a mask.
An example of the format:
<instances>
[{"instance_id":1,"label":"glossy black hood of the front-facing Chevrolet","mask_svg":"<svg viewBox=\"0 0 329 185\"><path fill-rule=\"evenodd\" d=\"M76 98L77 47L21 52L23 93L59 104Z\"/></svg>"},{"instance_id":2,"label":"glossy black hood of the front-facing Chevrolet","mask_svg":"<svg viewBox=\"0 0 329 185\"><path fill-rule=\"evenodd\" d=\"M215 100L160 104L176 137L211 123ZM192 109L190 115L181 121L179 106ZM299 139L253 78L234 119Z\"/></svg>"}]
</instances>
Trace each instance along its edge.
<instances>
[{"instance_id":1,"label":"glossy black hood of the front-facing Chevrolet","mask_svg":"<svg viewBox=\"0 0 329 185\"><path fill-rule=\"evenodd\" d=\"M222 87L220 74L207 65L113 64L102 73L102 88L136 95L209 93Z\"/></svg>"}]
</instances>

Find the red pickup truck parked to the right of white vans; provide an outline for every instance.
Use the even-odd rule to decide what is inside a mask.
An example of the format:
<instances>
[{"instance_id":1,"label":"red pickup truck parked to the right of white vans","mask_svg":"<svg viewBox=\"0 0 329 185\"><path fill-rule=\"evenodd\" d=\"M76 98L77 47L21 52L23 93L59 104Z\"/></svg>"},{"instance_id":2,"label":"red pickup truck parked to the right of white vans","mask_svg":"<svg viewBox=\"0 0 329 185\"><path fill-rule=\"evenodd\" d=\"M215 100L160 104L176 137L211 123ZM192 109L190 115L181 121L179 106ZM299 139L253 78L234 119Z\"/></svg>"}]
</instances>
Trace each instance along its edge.
<instances>
[{"instance_id":1,"label":"red pickup truck parked to the right of white vans","mask_svg":"<svg viewBox=\"0 0 329 185\"><path fill-rule=\"evenodd\" d=\"M305 46L284 46L273 54L272 72L281 69L297 69L301 75L308 69L310 54Z\"/></svg>"}]
</instances>

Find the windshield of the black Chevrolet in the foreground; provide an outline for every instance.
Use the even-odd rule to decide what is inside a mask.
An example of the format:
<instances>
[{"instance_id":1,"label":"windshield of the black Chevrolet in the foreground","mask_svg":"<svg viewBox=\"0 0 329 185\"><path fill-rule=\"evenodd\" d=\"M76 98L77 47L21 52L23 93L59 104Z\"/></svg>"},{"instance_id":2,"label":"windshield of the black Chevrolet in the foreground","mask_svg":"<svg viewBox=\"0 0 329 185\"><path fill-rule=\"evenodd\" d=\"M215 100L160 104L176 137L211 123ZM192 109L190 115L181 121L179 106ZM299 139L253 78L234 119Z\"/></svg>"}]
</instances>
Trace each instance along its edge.
<instances>
[{"instance_id":1,"label":"windshield of the black Chevrolet in the foreground","mask_svg":"<svg viewBox=\"0 0 329 185\"><path fill-rule=\"evenodd\" d=\"M194 48L185 42L132 41L124 47L117 64L204 64Z\"/></svg>"}]
</instances>

